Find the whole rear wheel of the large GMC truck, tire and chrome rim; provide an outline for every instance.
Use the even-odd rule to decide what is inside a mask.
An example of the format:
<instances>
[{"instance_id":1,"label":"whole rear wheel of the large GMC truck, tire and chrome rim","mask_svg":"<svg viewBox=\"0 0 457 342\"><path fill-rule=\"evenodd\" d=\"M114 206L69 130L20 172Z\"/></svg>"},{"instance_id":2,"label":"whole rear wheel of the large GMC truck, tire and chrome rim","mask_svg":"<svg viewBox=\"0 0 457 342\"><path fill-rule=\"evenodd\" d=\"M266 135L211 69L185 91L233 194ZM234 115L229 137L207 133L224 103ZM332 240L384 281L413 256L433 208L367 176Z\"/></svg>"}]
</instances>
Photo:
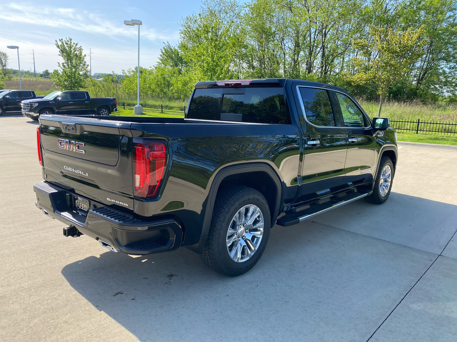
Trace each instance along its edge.
<instances>
[{"instance_id":1,"label":"whole rear wheel of the large GMC truck, tire and chrome rim","mask_svg":"<svg viewBox=\"0 0 457 342\"><path fill-rule=\"evenodd\" d=\"M265 250L270 220L268 202L257 190L242 186L220 190L201 254L203 262L231 277L249 271Z\"/></svg>"}]
</instances>

